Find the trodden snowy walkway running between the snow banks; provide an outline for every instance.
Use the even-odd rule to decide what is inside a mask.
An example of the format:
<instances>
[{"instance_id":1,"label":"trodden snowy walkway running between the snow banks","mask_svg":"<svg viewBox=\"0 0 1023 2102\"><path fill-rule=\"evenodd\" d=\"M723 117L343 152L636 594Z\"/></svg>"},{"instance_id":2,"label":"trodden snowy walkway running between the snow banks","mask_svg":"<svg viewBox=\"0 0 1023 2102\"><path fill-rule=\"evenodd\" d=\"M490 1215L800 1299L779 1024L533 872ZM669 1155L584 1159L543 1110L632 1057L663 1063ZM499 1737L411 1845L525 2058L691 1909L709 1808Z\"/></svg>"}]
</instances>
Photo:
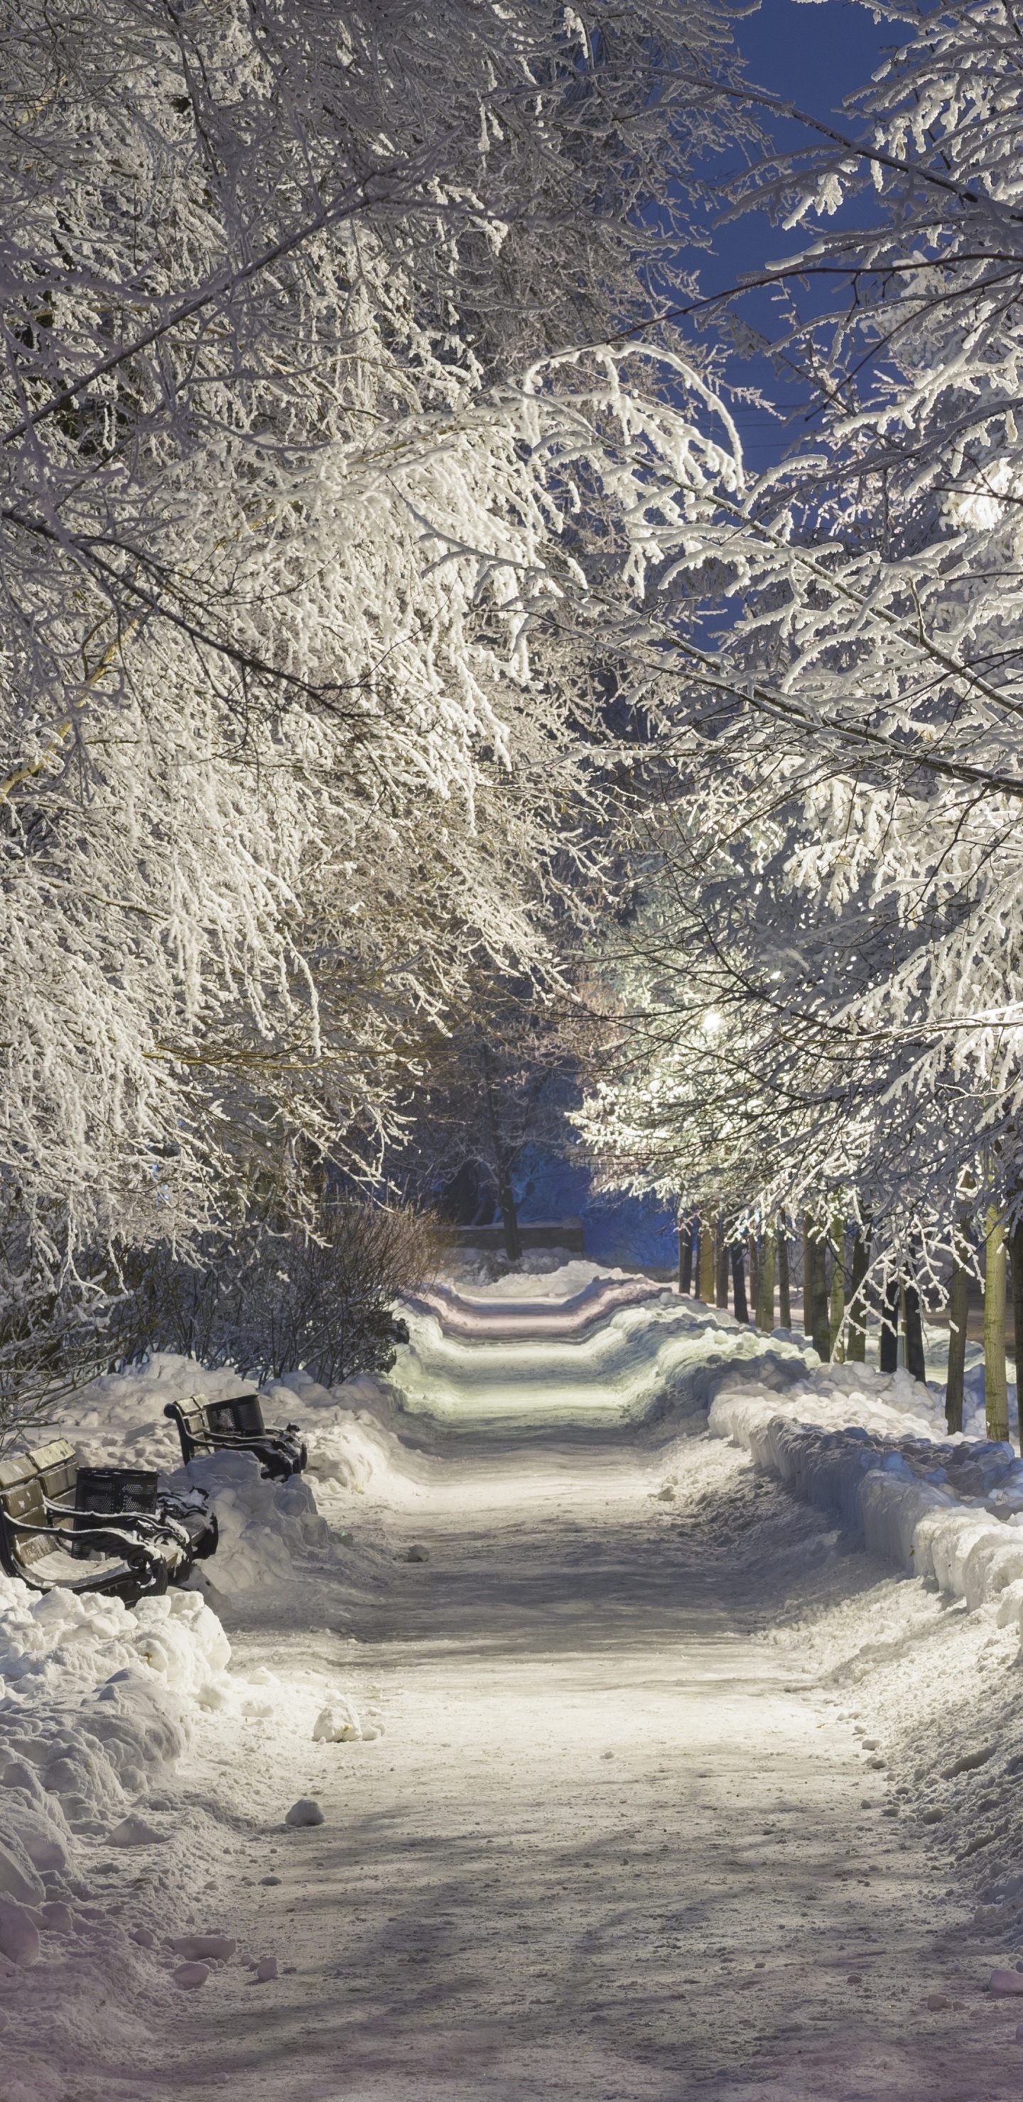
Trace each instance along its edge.
<instances>
[{"instance_id":1,"label":"trodden snowy walkway running between the snow banks","mask_svg":"<svg viewBox=\"0 0 1023 2102\"><path fill-rule=\"evenodd\" d=\"M1019 2098L1017 2007L981 1993L935 1835L884 1814L855 1701L764 1640L806 1570L882 1572L722 1444L657 1501L610 1417L516 1427L484 1387L383 1513L387 1553L429 1560L356 1612L324 1570L236 1614L244 1669L333 1669L385 1736L210 1730L181 1787L225 1850L192 1925L282 1976L181 1995L109 2096ZM305 1793L326 1822L282 1831Z\"/></svg>"}]
</instances>

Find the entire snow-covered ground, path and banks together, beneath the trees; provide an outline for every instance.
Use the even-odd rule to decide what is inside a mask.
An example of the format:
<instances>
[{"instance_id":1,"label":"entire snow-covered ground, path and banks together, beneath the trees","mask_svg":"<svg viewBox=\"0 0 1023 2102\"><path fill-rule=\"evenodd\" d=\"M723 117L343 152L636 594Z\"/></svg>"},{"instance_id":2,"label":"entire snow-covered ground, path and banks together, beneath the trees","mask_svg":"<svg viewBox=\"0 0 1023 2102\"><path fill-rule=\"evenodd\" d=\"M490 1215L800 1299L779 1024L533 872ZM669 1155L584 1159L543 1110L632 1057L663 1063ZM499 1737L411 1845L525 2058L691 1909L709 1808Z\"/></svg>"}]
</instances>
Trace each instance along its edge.
<instances>
[{"instance_id":1,"label":"entire snow-covered ground, path and banks together, beneath the trees","mask_svg":"<svg viewBox=\"0 0 1023 2102\"><path fill-rule=\"evenodd\" d=\"M196 1589L0 1589L4 2102L1017 2096L1012 1450L646 1280L457 1286L267 1389L301 1482L196 1465ZM238 1385L61 1427L173 1478Z\"/></svg>"}]
</instances>

